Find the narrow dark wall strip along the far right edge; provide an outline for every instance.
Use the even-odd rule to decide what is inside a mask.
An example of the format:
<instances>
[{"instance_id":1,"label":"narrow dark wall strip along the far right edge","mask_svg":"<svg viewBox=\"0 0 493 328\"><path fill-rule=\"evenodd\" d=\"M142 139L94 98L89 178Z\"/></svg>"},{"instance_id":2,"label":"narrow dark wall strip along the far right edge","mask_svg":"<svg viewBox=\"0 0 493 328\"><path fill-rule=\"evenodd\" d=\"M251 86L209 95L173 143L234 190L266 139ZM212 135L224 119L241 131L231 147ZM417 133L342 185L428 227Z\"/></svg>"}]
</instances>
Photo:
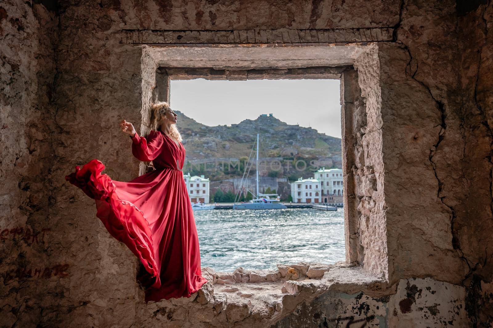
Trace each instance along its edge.
<instances>
[{"instance_id":1,"label":"narrow dark wall strip along the far right edge","mask_svg":"<svg viewBox=\"0 0 493 328\"><path fill-rule=\"evenodd\" d=\"M465 195L454 213L454 245L467 262L466 309L473 324L493 322L493 293L485 282L493 279L493 5L474 5L459 12L458 31L463 40L458 88L461 98L461 137ZM482 2L487 2L483 4ZM471 3L469 4L471 5ZM455 205L455 204L454 204ZM467 215L461 215L461 212Z\"/></svg>"}]
</instances>

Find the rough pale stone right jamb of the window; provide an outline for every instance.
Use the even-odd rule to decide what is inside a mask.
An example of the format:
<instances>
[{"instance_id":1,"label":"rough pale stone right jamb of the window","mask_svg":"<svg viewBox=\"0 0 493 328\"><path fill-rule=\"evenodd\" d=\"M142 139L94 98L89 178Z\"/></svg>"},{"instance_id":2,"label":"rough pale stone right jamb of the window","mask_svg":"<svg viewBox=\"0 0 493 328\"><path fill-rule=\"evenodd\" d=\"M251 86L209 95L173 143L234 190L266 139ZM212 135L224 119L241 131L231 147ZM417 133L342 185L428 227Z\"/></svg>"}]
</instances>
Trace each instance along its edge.
<instances>
[{"instance_id":1,"label":"rough pale stone right jamb of the window","mask_svg":"<svg viewBox=\"0 0 493 328\"><path fill-rule=\"evenodd\" d=\"M385 199L385 165L382 138L382 86L380 83L379 48L372 45L354 62L358 87L353 90L354 163L347 168L353 174L357 227L364 255L358 259L371 274L389 279L387 218ZM348 127L346 127L347 129ZM346 193L348 194L348 193ZM349 203L349 202L348 202ZM359 251L361 252L361 251Z\"/></svg>"}]
</instances>

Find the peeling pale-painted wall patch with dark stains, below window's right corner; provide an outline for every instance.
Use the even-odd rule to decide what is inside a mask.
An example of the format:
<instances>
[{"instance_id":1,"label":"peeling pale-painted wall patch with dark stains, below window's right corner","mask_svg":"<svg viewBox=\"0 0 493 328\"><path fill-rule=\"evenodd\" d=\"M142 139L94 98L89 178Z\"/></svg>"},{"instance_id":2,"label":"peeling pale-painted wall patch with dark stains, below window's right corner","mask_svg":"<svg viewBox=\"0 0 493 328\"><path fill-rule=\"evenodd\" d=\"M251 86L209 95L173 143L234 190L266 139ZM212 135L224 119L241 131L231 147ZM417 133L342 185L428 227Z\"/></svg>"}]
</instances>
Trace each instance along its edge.
<instances>
[{"instance_id":1,"label":"peeling pale-painted wall patch with dark stains, below window's right corner","mask_svg":"<svg viewBox=\"0 0 493 328\"><path fill-rule=\"evenodd\" d=\"M395 294L329 291L303 302L271 328L467 327L463 287L431 278L402 279Z\"/></svg>"}]
</instances>

